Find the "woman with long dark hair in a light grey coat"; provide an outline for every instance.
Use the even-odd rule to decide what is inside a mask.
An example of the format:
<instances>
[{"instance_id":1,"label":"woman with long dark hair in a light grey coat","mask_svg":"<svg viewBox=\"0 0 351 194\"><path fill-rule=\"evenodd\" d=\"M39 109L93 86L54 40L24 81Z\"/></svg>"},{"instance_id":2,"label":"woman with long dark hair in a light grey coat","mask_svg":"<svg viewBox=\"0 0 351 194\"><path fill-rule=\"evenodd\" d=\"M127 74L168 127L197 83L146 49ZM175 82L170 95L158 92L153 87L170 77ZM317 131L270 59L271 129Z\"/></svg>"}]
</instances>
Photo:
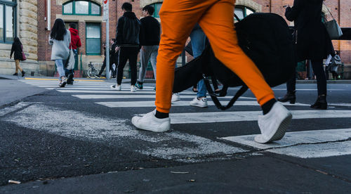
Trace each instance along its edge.
<instances>
[{"instance_id":1,"label":"woman with long dark hair in a light grey coat","mask_svg":"<svg viewBox=\"0 0 351 194\"><path fill-rule=\"evenodd\" d=\"M69 40L71 39L69 31L65 28L65 22L58 18L53 24L48 44L52 45L51 60L55 61L56 69L60 75L60 87L65 87L67 84L65 77L65 68L63 61L69 57Z\"/></svg>"}]
</instances>

